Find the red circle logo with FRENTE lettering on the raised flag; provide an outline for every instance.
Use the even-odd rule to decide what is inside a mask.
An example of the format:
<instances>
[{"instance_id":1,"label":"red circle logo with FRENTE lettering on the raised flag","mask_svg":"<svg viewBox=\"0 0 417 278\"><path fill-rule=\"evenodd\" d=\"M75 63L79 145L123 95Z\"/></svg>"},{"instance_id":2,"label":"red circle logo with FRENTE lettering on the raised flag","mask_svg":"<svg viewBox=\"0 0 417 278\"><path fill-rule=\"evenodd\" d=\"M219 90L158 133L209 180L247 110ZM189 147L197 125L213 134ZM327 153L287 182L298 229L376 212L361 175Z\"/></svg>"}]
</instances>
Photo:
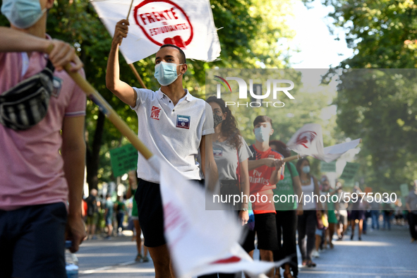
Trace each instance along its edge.
<instances>
[{"instance_id":1,"label":"red circle logo with FRENTE lettering on the raised flag","mask_svg":"<svg viewBox=\"0 0 417 278\"><path fill-rule=\"evenodd\" d=\"M183 9L169 0L145 0L135 6L136 24L159 47L174 44L185 49L193 40L193 25Z\"/></svg>"}]
</instances>

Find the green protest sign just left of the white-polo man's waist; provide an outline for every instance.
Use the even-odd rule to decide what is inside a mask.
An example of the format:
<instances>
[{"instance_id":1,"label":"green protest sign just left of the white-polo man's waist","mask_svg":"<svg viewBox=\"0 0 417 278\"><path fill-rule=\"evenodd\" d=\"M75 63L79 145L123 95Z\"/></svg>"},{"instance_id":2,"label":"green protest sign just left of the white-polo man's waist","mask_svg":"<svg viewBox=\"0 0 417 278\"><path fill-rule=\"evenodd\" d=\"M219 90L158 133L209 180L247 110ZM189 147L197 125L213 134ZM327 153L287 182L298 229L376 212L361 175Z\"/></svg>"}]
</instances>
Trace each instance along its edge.
<instances>
[{"instance_id":1,"label":"green protest sign just left of the white-polo man's waist","mask_svg":"<svg viewBox=\"0 0 417 278\"><path fill-rule=\"evenodd\" d=\"M110 150L111 169L114 176L122 176L138 167L138 150L132 144Z\"/></svg>"}]
</instances>

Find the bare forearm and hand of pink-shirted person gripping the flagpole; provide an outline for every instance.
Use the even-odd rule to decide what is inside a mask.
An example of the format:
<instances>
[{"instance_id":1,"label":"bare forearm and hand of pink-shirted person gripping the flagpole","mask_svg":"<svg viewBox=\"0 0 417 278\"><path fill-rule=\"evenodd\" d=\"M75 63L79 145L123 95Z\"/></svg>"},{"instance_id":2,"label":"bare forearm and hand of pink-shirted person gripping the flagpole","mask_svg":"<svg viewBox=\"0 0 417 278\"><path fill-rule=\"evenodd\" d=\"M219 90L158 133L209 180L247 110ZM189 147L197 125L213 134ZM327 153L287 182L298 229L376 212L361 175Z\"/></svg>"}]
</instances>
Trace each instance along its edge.
<instances>
[{"instance_id":1,"label":"bare forearm and hand of pink-shirted person gripping the flagpole","mask_svg":"<svg viewBox=\"0 0 417 278\"><path fill-rule=\"evenodd\" d=\"M50 45L53 45L49 60L56 68L56 71L62 71L63 67L71 64L71 71L78 71L83 67L83 63L75 54L75 49L70 44L61 40L47 40L41 37L36 37L28 33L0 27L1 44L0 52L44 52Z\"/></svg>"}]
</instances>

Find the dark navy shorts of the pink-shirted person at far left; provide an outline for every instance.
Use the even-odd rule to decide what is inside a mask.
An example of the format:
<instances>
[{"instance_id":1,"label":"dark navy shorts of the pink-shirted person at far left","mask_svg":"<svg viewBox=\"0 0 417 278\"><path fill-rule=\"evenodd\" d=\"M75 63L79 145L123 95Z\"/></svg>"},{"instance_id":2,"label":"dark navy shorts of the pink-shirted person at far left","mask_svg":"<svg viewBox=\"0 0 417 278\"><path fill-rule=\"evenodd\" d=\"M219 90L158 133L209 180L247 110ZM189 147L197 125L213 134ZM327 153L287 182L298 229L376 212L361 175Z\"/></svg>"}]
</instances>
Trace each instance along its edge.
<instances>
[{"instance_id":1,"label":"dark navy shorts of the pink-shirted person at far left","mask_svg":"<svg viewBox=\"0 0 417 278\"><path fill-rule=\"evenodd\" d=\"M0 210L0 277L66 278L64 203Z\"/></svg>"}]
</instances>

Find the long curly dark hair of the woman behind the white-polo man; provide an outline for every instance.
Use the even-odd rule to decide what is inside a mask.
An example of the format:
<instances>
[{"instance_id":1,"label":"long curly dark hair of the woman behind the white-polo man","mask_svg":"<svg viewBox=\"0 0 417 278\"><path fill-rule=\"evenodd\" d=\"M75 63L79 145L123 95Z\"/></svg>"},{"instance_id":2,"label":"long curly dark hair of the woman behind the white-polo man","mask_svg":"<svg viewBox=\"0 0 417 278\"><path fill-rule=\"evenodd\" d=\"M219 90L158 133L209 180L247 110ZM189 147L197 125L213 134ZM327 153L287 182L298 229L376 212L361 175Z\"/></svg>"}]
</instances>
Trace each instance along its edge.
<instances>
[{"instance_id":1,"label":"long curly dark hair of the woman behind the white-polo man","mask_svg":"<svg viewBox=\"0 0 417 278\"><path fill-rule=\"evenodd\" d=\"M234 118L229 107L226 107L226 103L223 99L218 99L214 95L206 99L207 103L215 102L219 104L223 114L226 113L226 119L222 121L222 135L226 138L230 138L229 145L235 146L237 150L241 147L241 132L238 129L238 123Z\"/></svg>"}]
</instances>

